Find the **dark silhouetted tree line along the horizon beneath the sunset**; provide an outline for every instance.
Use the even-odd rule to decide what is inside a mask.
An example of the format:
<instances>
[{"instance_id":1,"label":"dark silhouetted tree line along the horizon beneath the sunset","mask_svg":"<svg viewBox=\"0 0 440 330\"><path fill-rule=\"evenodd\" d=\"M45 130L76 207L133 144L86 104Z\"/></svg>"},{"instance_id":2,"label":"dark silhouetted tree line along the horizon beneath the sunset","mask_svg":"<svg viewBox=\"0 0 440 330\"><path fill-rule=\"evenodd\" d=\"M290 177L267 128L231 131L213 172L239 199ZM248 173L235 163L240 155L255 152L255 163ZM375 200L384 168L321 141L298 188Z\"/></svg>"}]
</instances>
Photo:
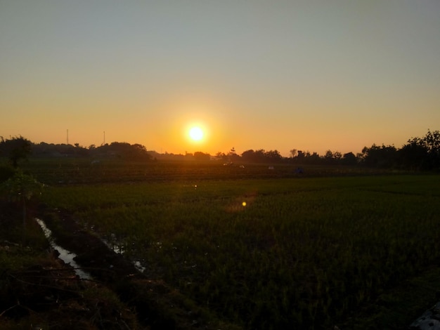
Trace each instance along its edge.
<instances>
[{"instance_id":1,"label":"dark silhouetted tree line along the horizon beneath the sunset","mask_svg":"<svg viewBox=\"0 0 440 330\"><path fill-rule=\"evenodd\" d=\"M410 169L415 171L440 170L440 132L427 131L422 138L410 138L403 147L394 145L375 145L363 147L362 152L354 154L327 150L320 155L317 152L305 150L290 150L290 157L283 157L278 150L246 150L237 154L235 148L228 152L217 152L214 156L204 152L186 154L159 154L148 151L145 146L129 143L113 142L96 147L82 147L79 144L34 144L22 136L4 139L0 136L0 157L8 157L16 167L18 160L27 155L35 157L115 157L121 159L151 161L153 159L190 159L195 161L209 161L217 159L225 164L238 162L249 163L291 163L298 165L347 165L368 166L384 169Z\"/></svg>"}]
</instances>

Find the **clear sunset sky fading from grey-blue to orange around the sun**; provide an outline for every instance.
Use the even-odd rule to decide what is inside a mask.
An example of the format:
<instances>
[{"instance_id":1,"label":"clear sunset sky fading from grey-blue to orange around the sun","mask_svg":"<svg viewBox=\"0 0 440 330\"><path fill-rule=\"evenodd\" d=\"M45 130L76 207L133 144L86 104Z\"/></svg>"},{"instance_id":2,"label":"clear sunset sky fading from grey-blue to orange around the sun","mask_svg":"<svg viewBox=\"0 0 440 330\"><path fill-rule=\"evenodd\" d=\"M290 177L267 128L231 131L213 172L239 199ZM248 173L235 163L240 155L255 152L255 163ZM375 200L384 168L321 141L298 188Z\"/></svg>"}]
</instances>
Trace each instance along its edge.
<instances>
[{"instance_id":1,"label":"clear sunset sky fading from grey-blue to orange around the sun","mask_svg":"<svg viewBox=\"0 0 440 330\"><path fill-rule=\"evenodd\" d=\"M440 1L0 0L0 115L34 143L399 148L440 129Z\"/></svg>"}]
</instances>

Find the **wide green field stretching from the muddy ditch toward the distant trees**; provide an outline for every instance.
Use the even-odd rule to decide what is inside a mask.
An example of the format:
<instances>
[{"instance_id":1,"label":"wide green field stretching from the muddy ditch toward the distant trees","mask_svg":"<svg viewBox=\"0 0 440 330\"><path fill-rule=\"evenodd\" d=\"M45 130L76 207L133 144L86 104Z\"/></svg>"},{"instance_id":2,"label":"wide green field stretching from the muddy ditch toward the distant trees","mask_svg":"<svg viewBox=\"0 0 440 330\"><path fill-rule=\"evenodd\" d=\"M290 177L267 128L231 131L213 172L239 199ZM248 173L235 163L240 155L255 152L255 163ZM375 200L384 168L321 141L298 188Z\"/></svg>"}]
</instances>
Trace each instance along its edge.
<instances>
[{"instance_id":1,"label":"wide green field stretching from the muddy ditch toward the distant trees","mask_svg":"<svg viewBox=\"0 0 440 330\"><path fill-rule=\"evenodd\" d=\"M80 159L26 166L49 184L46 206L244 329L355 329L347 319L358 308L390 305L402 284L438 274L439 176ZM357 329L401 329L434 303L431 293L393 326L378 317Z\"/></svg>"}]
</instances>

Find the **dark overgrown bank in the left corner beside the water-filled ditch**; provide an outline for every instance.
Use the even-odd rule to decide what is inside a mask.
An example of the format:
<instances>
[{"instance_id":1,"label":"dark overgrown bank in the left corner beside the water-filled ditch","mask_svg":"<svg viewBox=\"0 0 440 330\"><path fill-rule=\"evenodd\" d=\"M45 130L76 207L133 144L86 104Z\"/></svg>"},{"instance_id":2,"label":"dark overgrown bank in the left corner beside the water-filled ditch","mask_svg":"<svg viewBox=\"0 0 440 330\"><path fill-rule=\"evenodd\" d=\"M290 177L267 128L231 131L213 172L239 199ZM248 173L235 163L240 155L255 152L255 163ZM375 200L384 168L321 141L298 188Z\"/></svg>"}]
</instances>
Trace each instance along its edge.
<instances>
[{"instance_id":1,"label":"dark overgrown bank in the left corner beside the water-filled ditch","mask_svg":"<svg viewBox=\"0 0 440 330\"><path fill-rule=\"evenodd\" d=\"M140 329L114 292L80 280L57 258L32 218L22 242L21 212L4 201L0 209L1 329Z\"/></svg>"}]
</instances>

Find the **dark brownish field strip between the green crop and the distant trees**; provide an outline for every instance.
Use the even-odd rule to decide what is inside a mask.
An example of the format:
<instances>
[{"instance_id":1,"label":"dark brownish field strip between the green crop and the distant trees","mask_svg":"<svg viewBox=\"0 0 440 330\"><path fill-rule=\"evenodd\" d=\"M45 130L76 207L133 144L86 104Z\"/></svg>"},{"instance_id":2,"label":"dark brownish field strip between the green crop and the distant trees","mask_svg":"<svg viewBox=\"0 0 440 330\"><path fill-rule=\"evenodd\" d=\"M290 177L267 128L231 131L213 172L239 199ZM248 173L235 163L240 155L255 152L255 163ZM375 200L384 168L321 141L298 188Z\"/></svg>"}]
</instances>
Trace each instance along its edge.
<instances>
[{"instance_id":1,"label":"dark brownish field strip between the green crop and the distant trees","mask_svg":"<svg viewBox=\"0 0 440 330\"><path fill-rule=\"evenodd\" d=\"M47 185L142 183L197 180L242 180L371 175L377 169L344 166L298 166L292 164L229 164L219 161L139 162L118 159L32 159L25 169ZM299 173L301 172L301 173Z\"/></svg>"}]
</instances>

